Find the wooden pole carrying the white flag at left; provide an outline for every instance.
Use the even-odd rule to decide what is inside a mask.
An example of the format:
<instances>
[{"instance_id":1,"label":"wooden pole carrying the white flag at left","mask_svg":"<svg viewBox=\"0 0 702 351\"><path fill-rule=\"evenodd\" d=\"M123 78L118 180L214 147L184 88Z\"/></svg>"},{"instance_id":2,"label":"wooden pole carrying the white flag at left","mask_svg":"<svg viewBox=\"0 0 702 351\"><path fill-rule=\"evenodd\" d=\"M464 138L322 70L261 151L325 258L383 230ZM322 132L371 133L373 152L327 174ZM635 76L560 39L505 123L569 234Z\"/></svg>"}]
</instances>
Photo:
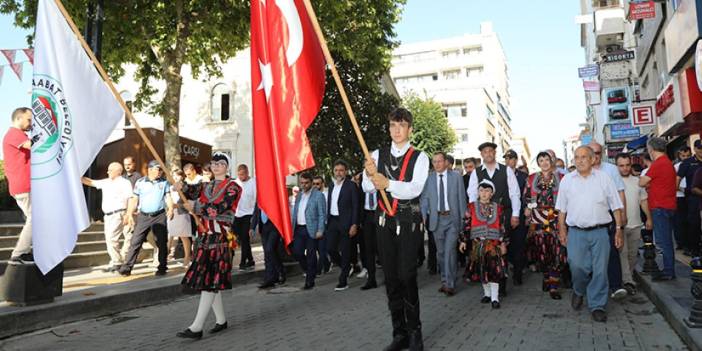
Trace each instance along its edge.
<instances>
[{"instance_id":1,"label":"wooden pole carrying the white flag at left","mask_svg":"<svg viewBox=\"0 0 702 351\"><path fill-rule=\"evenodd\" d=\"M122 99L122 95L119 94L117 91L117 88L115 88L115 84L112 82L112 79L107 75L107 72L105 72L105 69L102 67L102 64L100 61L98 61L97 57L95 57L95 53L93 53L93 50L90 48L88 43L85 41L85 38L83 38L83 35L80 34L80 30L78 29L78 26L76 26L75 22L73 22L73 18L71 15L68 13L66 8L63 6L61 3L61 0L54 0L56 3L56 6L59 8L59 11L61 11L61 14L63 15L63 18L66 19L66 22L68 22L69 27L71 27L71 30L73 31L73 34L78 38L78 41L80 42L81 46L83 46L83 50L88 54L88 57L90 57L90 61L93 62L93 65L95 68L97 68L98 72L100 73L100 76L102 77L102 80L105 81L107 84L107 87L110 88L110 91L112 92L112 95L117 99L117 102L119 105L122 107L122 110L124 110L124 113L127 115L127 118L129 118L129 122L136 128L137 133L141 137L141 139L144 141L144 144L146 145L146 148L149 149L151 152L151 155L156 159L156 162L161 166L161 169L164 171L164 175L166 176L166 179L168 182L171 184L175 184L175 180L171 176L171 172L168 171L166 168L166 164L163 162L161 157L158 155L158 152L156 152L156 149L154 148L153 144L151 144L151 141L149 138L146 137L146 133L144 133L144 130L141 129L141 126L139 125L139 122L134 118L134 115L132 115L131 109L127 106L127 103ZM178 190L178 195L180 196L181 199L186 199L185 195L183 194L182 190ZM185 201L187 203L187 201ZM197 226L200 226L200 219L198 216L196 216L194 213L190 212L193 217L195 218L195 222Z\"/></svg>"}]
</instances>

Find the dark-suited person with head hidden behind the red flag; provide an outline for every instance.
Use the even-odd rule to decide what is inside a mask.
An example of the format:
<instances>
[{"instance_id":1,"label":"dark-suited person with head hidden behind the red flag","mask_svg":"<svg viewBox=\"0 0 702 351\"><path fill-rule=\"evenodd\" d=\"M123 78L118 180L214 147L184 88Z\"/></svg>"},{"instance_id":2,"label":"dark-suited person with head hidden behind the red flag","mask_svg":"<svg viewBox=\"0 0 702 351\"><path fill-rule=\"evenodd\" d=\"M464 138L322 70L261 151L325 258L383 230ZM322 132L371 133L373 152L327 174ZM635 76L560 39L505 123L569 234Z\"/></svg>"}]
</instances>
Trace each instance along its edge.
<instances>
[{"instance_id":1,"label":"dark-suited person with head hidden behind the red flag","mask_svg":"<svg viewBox=\"0 0 702 351\"><path fill-rule=\"evenodd\" d=\"M266 266L265 274L263 275L263 284L259 285L259 289L269 289L275 286L276 283L285 283L285 267L278 253L280 246L280 233L271 222L265 212L258 207L254 208L253 216L251 217L251 230L249 235L253 237L254 233L261 236L263 244L263 259Z\"/></svg>"}]
</instances>

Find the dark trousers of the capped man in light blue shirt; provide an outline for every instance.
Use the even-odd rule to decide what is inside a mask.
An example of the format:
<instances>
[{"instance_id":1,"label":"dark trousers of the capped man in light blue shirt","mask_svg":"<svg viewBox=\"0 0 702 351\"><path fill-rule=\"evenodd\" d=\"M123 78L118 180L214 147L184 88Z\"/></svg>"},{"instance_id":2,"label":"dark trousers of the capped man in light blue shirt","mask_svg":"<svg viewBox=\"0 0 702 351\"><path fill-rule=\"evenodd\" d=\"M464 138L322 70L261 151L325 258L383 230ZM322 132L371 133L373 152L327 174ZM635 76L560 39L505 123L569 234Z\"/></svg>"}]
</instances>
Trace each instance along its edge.
<instances>
[{"instance_id":1,"label":"dark trousers of the capped man in light blue shirt","mask_svg":"<svg viewBox=\"0 0 702 351\"><path fill-rule=\"evenodd\" d=\"M166 213L161 213L155 217L139 213L136 218L134 234L129 243L129 252L125 260L125 265L131 271L141 251L141 245L146 241L149 231L154 232L156 246L158 247L158 270L166 271L168 267L168 229L166 228Z\"/></svg>"}]
</instances>

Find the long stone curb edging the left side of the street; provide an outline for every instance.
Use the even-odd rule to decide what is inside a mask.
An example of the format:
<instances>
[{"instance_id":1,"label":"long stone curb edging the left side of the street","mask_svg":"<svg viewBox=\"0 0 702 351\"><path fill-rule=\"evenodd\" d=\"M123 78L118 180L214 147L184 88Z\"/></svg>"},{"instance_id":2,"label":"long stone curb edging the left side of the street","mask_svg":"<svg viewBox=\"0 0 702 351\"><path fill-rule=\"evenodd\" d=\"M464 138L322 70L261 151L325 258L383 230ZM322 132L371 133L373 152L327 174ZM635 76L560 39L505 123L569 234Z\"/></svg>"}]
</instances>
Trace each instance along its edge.
<instances>
[{"instance_id":1,"label":"long stone curb edging the left side of the street","mask_svg":"<svg viewBox=\"0 0 702 351\"><path fill-rule=\"evenodd\" d=\"M300 274L297 263L285 263L287 275ZM263 267L232 276L234 287L263 279ZM129 281L96 288L72 291L52 303L0 307L0 340L65 323L93 319L139 307L152 306L192 296L180 284L182 274Z\"/></svg>"}]
</instances>

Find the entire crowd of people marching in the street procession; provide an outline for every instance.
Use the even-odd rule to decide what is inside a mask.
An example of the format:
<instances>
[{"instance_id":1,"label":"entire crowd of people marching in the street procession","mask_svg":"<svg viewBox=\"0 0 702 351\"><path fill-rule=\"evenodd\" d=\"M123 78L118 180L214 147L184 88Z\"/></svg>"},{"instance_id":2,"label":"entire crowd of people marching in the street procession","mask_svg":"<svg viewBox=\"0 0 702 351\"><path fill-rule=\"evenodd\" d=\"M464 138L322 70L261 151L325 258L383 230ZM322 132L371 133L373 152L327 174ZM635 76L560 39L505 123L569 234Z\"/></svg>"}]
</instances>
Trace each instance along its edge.
<instances>
[{"instance_id":1,"label":"entire crowd of people marching in the street procession","mask_svg":"<svg viewBox=\"0 0 702 351\"><path fill-rule=\"evenodd\" d=\"M31 110L17 109L3 140L10 191L27 214L31 140L24 132L30 117ZM295 231L291 248L306 276L304 290L313 290L315 277L329 273L332 266L339 268L335 291L348 289L353 275L367 278L361 290L373 289L378 286L376 266L382 267L393 328L385 350L423 349L417 269L424 262L425 237L430 248L427 268L430 274L439 273L440 294L454 296L462 277L466 284L482 283L484 294L475 297L476 303L499 309L501 303L509 303L507 278L519 286L530 268L543 274L542 289L552 299L561 299L562 289L572 286L572 308L580 310L587 301L598 322L607 320L609 299L637 292L631 273L642 230L653 230L663 255L664 267L654 280L676 278L674 242L685 253L699 250L700 141L694 144L693 156L689 148L680 150L674 165L665 154L665 140L651 138L648 168L640 177L640 167L632 165L630 155L617 155L617 166L606 163L597 143L576 150L570 172L553 151L540 152L539 171L529 175L524 164L517 167L516 152L508 150L505 163L498 163L497 146L486 142L478 148L481 158L463 160L461 172L453 169L447 153L436 152L430 162L409 143L412 120L406 109L391 111L391 142L372 153L363 172L350 177L349 165L336 161L328 187L324 176L303 173L300 191L292 192L290 202ZM127 157L123 165L110 164L105 179L82 179L103 191L110 256L106 271L129 275L149 231L156 238L157 276L165 274L167 261L173 259L169 237L179 237L187 246L183 285L200 291L201 297L193 323L179 337L201 338L210 308L216 324L209 332L227 328L219 291L232 286L232 233L242 246L241 270L253 269L250 239L261 236L266 266L261 289L286 283L282 240L257 206L255 179L243 164L237 167L237 179L231 178L229 163L229 157L215 153L211 163L201 167L202 176L197 167L186 164L183 171L172 170L176 184L168 184L156 161L148 163L148 174L142 177ZM197 228L188 212L197 215ZM25 235L31 233L30 221L11 264L32 262ZM122 247L120 236L125 238Z\"/></svg>"}]
</instances>

